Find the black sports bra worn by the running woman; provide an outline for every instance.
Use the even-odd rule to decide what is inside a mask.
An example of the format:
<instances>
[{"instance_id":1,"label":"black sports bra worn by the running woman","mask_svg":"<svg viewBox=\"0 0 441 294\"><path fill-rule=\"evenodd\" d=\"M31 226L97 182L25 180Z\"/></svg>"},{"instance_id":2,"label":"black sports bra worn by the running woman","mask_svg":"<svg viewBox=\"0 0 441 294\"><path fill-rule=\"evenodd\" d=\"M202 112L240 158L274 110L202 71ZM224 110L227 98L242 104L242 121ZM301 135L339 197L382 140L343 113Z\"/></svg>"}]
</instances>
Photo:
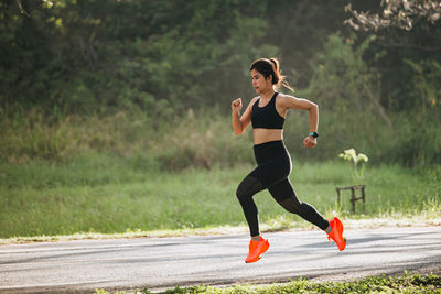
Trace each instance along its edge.
<instances>
[{"instance_id":1,"label":"black sports bra worn by the running woman","mask_svg":"<svg viewBox=\"0 0 441 294\"><path fill-rule=\"evenodd\" d=\"M271 100L263 106L259 107L259 98L254 105L251 110L252 129L283 129L284 118L282 118L276 109L276 97L278 92L271 97Z\"/></svg>"}]
</instances>

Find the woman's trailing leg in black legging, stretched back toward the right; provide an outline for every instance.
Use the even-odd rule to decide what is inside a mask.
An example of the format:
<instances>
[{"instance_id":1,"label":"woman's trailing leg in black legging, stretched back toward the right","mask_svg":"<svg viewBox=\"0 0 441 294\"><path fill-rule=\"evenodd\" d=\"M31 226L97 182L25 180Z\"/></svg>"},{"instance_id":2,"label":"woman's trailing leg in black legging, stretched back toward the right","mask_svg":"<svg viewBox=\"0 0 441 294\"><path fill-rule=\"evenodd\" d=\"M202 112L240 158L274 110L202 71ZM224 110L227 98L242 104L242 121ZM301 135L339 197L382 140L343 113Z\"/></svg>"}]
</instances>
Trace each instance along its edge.
<instances>
[{"instance_id":1,"label":"woman's trailing leg in black legging, stretched back toward the right","mask_svg":"<svg viewBox=\"0 0 441 294\"><path fill-rule=\"evenodd\" d=\"M301 216L303 219L318 226L322 230L326 230L330 227L324 217L308 203L302 203L295 196L295 192L288 178L270 186L268 190L272 197L288 211Z\"/></svg>"}]
</instances>

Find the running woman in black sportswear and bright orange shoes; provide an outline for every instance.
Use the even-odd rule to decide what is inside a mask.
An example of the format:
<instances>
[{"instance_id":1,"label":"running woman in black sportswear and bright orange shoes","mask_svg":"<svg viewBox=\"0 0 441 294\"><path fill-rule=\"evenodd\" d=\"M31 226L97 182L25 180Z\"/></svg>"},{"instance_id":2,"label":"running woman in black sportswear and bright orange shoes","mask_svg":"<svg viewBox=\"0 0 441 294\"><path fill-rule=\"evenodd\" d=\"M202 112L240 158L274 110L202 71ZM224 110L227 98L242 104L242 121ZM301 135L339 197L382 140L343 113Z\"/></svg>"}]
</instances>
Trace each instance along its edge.
<instances>
[{"instance_id":1,"label":"running woman in black sportswear and bright orange shoes","mask_svg":"<svg viewBox=\"0 0 441 294\"><path fill-rule=\"evenodd\" d=\"M293 91L286 77L281 75L277 58L257 59L249 70L252 87L259 96L252 98L241 116L241 98L232 102L234 132L237 135L241 134L249 123L252 124L254 153L257 162L257 167L241 181L236 192L251 235L249 253L245 262L258 261L269 248L268 239L260 236L257 207L252 199L256 193L263 189L268 189L286 210L301 216L324 230L327 238L337 244L340 251L343 251L346 239L343 238L343 224L340 219L334 218L327 221L314 207L300 202L289 181L292 163L283 143L283 122L288 109L309 111L310 132L303 140L303 146L315 148L319 137L318 105L277 91L280 86Z\"/></svg>"}]
</instances>

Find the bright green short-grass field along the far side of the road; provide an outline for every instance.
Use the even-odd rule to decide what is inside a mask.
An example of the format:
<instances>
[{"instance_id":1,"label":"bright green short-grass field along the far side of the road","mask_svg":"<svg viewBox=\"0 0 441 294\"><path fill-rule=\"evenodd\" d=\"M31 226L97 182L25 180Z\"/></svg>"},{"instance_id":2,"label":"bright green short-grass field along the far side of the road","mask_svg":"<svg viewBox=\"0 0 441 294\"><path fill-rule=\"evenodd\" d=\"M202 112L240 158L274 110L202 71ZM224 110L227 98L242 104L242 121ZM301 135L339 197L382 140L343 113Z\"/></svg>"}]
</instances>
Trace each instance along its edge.
<instances>
[{"instance_id":1,"label":"bright green short-grass field along the far side of the road","mask_svg":"<svg viewBox=\"0 0 441 294\"><path fill-rule=\"evenodd\" d=\"M251 165L161 172L149 161L103 154L67 163L0 164L0 238L78 232L120 233L246 226L235 190ZM354 182L347 162L294 161L298 196L326 218L441 218L440 168L418 173L398 166L367 167ZM348 194L336 203L336 186L366 185L366 211L351 214ZM266 229L311 228L284 211L267 192L255 196Z\"/></svg>"}]
</instances>

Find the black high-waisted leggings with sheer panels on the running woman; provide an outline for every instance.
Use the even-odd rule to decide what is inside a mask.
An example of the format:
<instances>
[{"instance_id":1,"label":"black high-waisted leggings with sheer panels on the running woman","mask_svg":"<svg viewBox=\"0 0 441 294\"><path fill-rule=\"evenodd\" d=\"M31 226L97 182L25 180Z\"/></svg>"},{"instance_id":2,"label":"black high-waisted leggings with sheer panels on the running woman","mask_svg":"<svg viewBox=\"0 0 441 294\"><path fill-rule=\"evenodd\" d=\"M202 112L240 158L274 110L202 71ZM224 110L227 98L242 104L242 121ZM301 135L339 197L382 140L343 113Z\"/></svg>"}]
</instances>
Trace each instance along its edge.
<instances>
[{"instance_id":1,"label":"black high-waisted leggings with sheer panels on the running woman","mask_svg":"<svg viewBox=\"0 0 441 294\"><path fill-rule=\"evenodd\" d=\"M266 188L288 211L301 216L322 230L329 227L314 207L302 203L295 196L288 178L291 173L291 157L283 141L271 141L254 146L257 167L249 173L237 187L237 198L244 209L251 237L259 236L259 219L252 196Z\"/></svg>"}]
</instances>

